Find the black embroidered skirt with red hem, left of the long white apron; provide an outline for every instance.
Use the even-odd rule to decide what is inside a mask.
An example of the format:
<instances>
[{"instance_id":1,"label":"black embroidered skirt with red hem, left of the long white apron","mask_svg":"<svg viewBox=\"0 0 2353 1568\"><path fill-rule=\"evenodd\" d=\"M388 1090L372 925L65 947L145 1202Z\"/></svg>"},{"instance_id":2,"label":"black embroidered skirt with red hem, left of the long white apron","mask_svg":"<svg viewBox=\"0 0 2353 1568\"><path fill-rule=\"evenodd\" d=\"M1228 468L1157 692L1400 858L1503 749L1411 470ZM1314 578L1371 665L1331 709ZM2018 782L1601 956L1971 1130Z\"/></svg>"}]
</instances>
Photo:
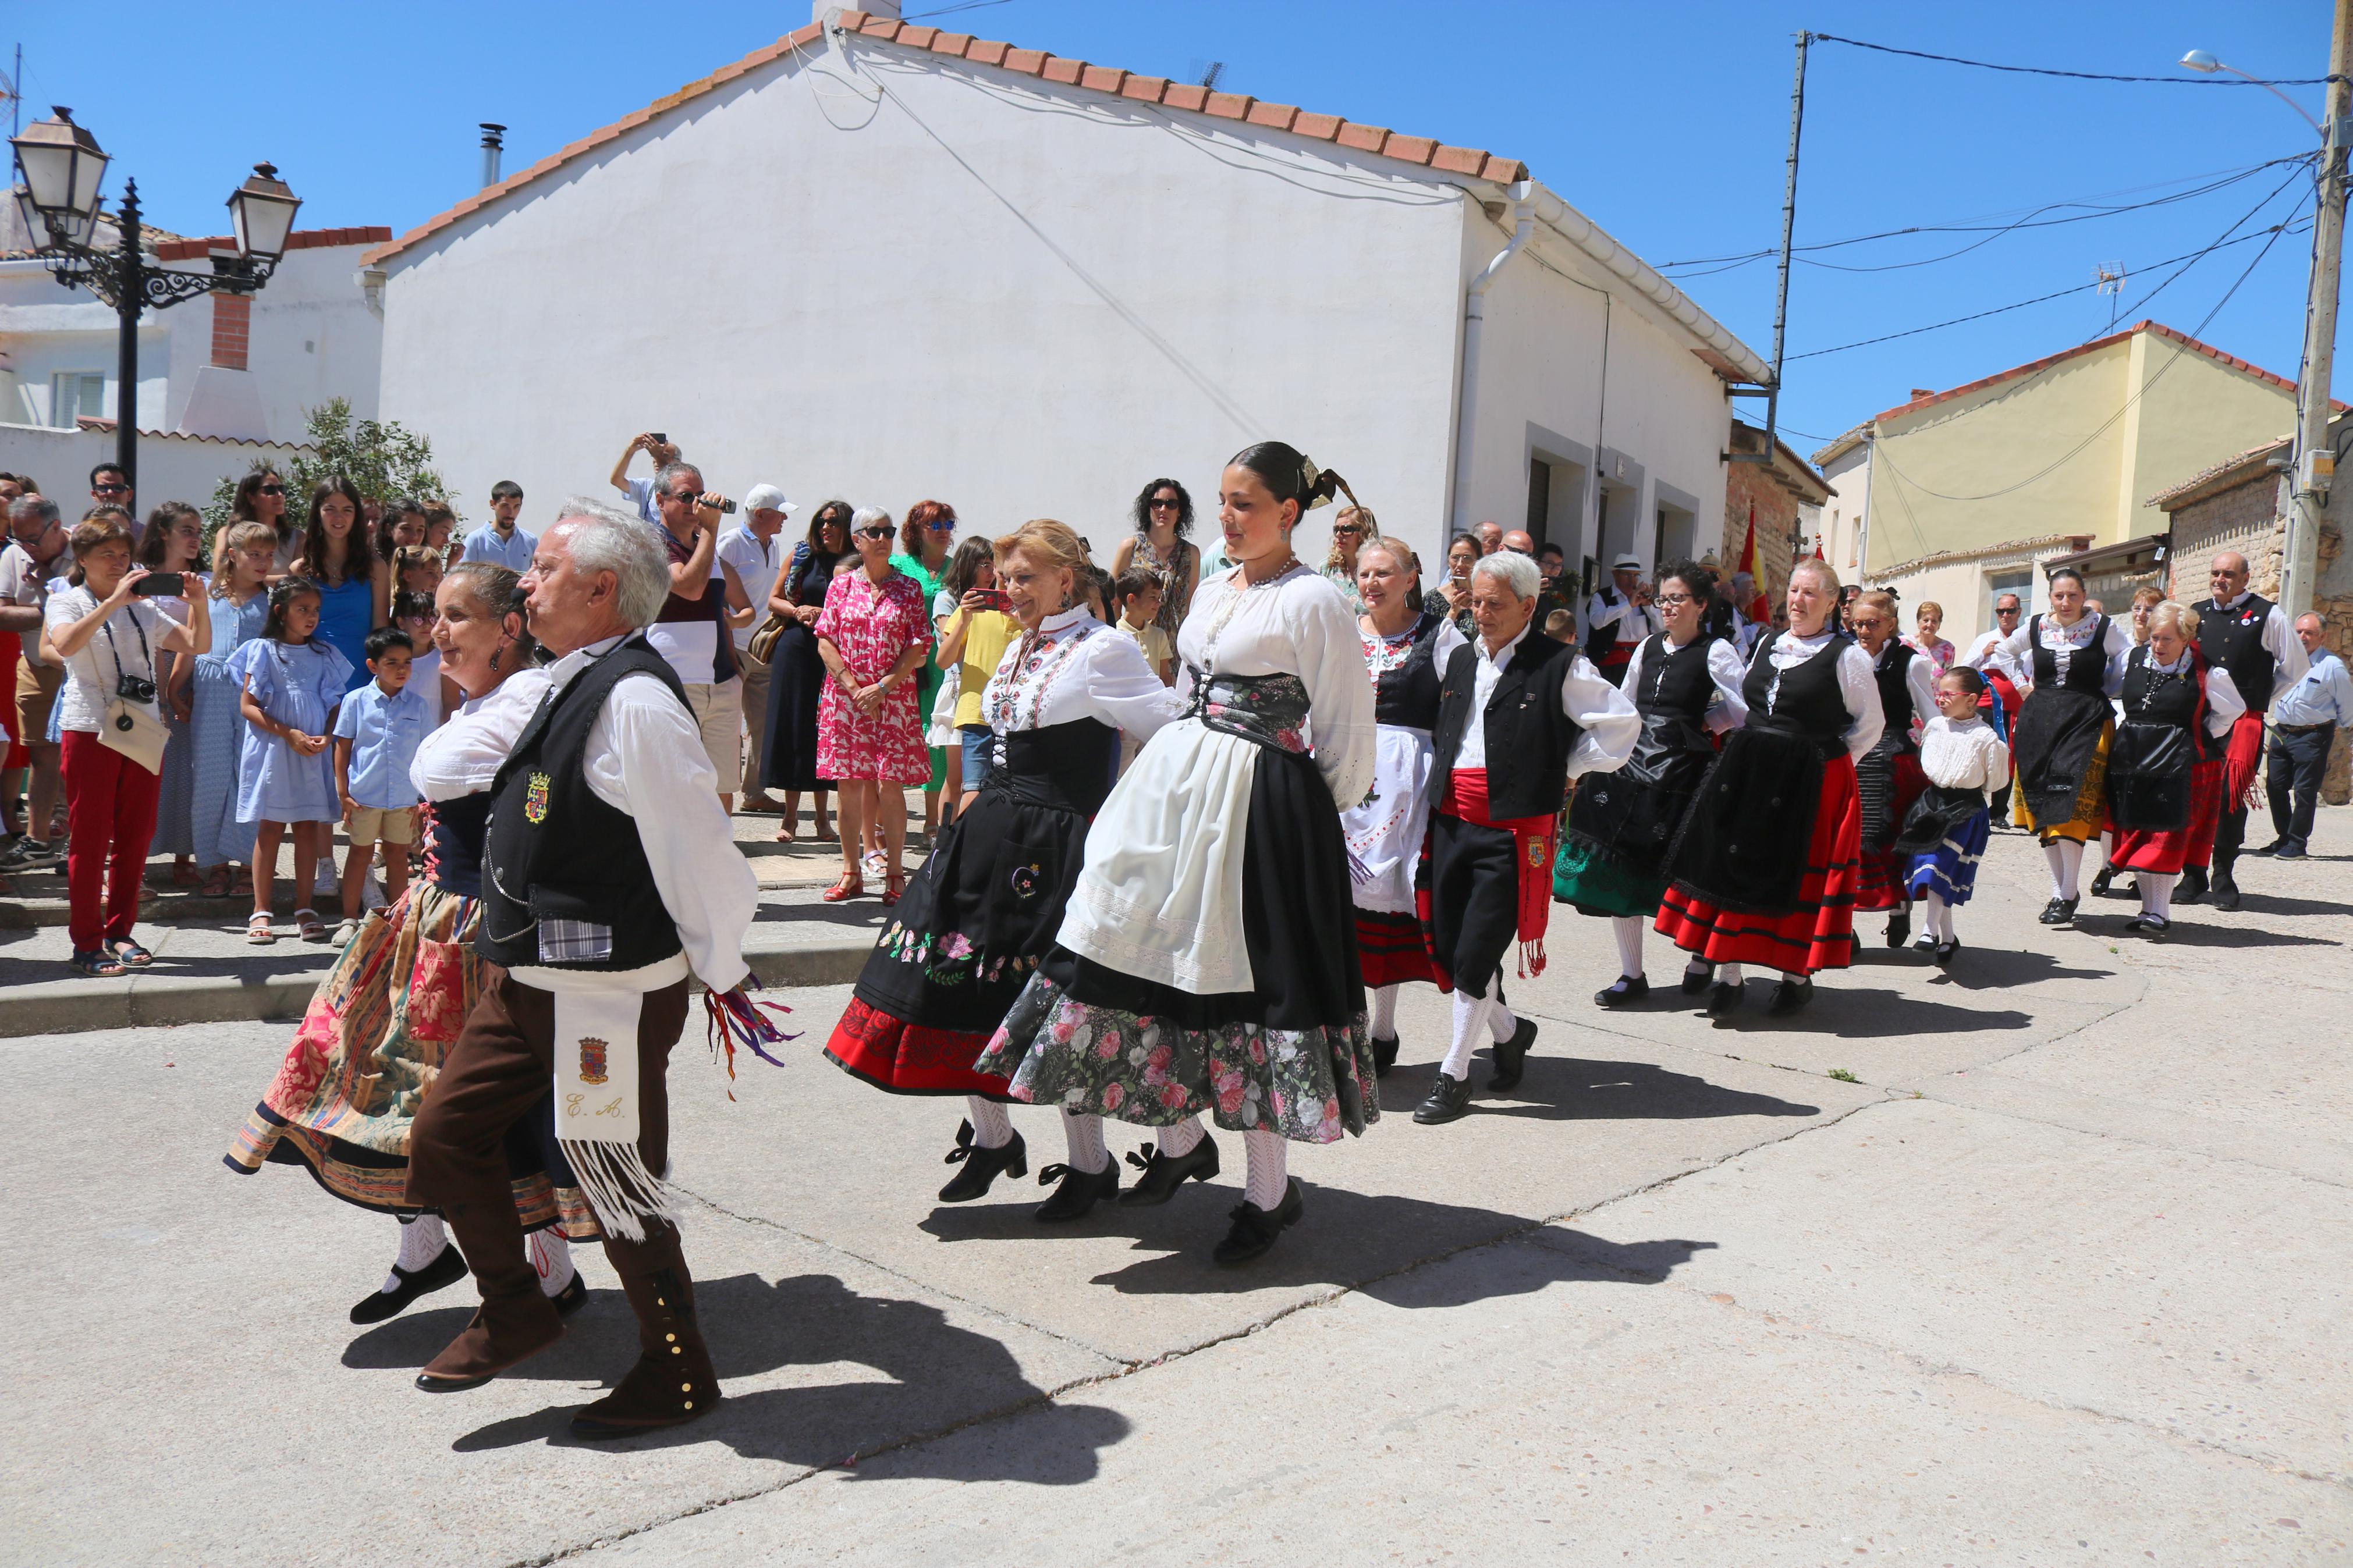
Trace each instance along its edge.
<instances>
[{"instance_id":1,"label":"black embroidered skirt with red hem, left of the long white apron","mask_svg":"<svg viewBox=\"0 0 2353 1568\"><path fill-rule=\"evenodd\" d=\"M993 780L908 882L826 1058L889 1093L1009 1100L972 1063L1052 950L1085 851L1085 816Z\"/></svg>"}]
</instances>

